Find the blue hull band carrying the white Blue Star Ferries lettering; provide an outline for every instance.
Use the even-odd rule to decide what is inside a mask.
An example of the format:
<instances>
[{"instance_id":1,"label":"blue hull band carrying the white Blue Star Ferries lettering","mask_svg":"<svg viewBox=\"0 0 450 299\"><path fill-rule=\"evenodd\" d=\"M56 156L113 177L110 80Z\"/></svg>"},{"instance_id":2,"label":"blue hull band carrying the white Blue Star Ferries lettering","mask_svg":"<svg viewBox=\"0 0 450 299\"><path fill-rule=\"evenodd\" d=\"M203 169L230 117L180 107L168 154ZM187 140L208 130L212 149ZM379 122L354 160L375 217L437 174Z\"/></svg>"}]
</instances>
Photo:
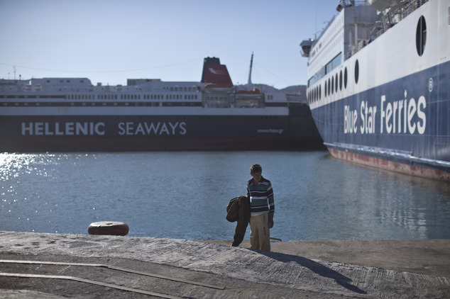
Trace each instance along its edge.
<instances>
[{"instance_id":1,"label":"blue hull band carrying the white Blue Star Ferries lettering","mask_svg":"<svg viewBox=\"0 0 450 299\"><path fill-rule=\"evenodd\" d=\"M450 62L312 114L329 148L450 171Z\"/></svg>"}]
</instances>

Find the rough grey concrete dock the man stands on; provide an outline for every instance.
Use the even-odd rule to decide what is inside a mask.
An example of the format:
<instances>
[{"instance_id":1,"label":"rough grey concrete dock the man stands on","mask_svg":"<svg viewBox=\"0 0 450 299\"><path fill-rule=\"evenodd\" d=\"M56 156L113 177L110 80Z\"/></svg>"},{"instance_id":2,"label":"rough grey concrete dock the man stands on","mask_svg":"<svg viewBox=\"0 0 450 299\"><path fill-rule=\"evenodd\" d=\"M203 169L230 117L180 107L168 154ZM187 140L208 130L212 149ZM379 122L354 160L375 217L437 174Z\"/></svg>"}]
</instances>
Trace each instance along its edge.
<instances>
[{"instance_id":1,"label":"rough grey concrete dock the man stands on","mask_svg":"<svg viewBox=\"0 0 450 299\"><path fill-rule=\"evenodd\" d=\"M0 298L450 298L450 240L230 245L0 231Z\"/></svg>"}]
</instances>

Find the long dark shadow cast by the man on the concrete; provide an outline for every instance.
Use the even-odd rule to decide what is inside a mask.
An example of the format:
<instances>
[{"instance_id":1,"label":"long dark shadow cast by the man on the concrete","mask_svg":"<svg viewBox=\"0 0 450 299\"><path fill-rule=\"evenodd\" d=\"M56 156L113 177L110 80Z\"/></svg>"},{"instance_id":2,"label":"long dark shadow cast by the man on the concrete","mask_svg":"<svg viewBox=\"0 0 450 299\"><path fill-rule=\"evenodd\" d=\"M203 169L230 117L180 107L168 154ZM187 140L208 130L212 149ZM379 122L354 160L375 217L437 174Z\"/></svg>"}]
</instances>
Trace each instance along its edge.
<instances>
[{"instance_id":1,"label":"long dark shadow cast by the man on the concrete","mask_svg":"<svg viewBox=\"0 0 450 299\"><path fill-rule=\"evenodd\" d=\"M306 259L302 256L295 256L290 254L281 254L278 252L262 252L260 250L250 249L254 252L258 252L259 254L263 254L265 256L270 257L270 259L275 259L277 261L280 261L282 263L290 263L292 261L296 262L297 264L300 264L300 266L303 266L320 276L331 278L336 281L339 285L343 286L347 290L351 290L352 292L358 293L358 294L367 294L364 290L361 290L361 288L358 288L357 286L353 286L351 284L351 279L342 275L341 273L334 271L333 269L330 269L322 264L317 263L316 261L312 261L311 259Z\"/></svg>"}]
</instances>

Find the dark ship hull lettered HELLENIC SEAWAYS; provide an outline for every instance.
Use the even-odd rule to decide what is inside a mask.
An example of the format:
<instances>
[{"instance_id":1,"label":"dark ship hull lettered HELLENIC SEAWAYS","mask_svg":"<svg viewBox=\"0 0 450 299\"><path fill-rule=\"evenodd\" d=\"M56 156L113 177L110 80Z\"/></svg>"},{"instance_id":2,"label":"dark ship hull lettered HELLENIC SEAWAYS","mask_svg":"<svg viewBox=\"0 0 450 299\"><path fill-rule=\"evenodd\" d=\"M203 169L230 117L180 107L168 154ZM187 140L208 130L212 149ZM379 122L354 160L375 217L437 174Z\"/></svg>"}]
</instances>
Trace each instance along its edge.
<instances>
[{"instance_id":1,"label":"dark ship hull lettered HELLENIC SEAWAYS","mask_svg":"<svg viewBox=\"0 0 450 299\"><path fill-rule=\"evenodd\" d=\"M320 148L309 108L302 110L306 115L3 115L0 151Z\"/></svg>"}]
</instances>

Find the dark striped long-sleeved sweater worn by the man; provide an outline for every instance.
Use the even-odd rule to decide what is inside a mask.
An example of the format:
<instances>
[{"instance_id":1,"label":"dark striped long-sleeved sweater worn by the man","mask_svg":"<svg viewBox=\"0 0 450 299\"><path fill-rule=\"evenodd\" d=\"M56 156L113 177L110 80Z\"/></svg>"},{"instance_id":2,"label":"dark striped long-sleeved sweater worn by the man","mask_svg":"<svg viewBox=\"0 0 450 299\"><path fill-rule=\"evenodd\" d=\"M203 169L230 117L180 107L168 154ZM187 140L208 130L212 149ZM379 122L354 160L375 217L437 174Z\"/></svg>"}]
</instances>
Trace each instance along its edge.
<instances>
[{"instance_id":1,"label":"dark striped long-sleeved sweater worn by the man","mask_svg":"<svg viewBox=\"0 0 450 299\"><path fill-rule=\"evenodd\" d=\"M272 184L268 179L261 177L258 185L253 184L253 179L247 182L247 194L250 198L251 215L259 215L269 212L273 217L275 213L275 201L273 199Z\"/></svg>"}]
</instances>

